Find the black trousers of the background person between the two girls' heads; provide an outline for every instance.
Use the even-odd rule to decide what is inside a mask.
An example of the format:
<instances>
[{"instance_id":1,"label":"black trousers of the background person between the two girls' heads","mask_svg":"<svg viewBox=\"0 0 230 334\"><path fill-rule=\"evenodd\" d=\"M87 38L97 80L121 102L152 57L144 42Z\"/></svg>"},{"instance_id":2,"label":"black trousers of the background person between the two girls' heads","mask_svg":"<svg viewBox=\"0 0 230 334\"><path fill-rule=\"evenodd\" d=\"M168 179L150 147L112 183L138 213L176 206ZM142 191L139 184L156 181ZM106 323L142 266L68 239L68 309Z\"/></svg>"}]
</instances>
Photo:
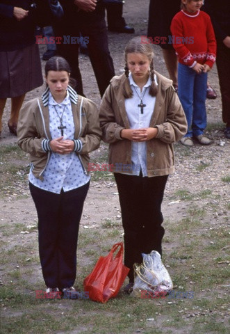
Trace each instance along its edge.
<instances>
[{"instance_id":1,"label":"black trousers of the background person between the two girls' heads","mask_svg":"<svg viewBox=\"0 0 230 334\"><path fill-rule=\"evenodd\" d=\"M110 84L110 79L115 75L113 59L108 49L104 6L98 3L96 10L90 13L77 10L73 4L65 6L65 1L63 1L63 7L65 15L62 21L53 26L55 35L63 38L62 42L56 45L58 54L68 61L71 67L71 77L76 80L76 91L84 96L79 69L79 42L76 37L80 37L80 32L83 37L87 37L89 40L88 53L102 97ZM75 40L70 39L69 43L64 43L66 40L64 36L70 36Z\"/></svg>"}]
</instances>

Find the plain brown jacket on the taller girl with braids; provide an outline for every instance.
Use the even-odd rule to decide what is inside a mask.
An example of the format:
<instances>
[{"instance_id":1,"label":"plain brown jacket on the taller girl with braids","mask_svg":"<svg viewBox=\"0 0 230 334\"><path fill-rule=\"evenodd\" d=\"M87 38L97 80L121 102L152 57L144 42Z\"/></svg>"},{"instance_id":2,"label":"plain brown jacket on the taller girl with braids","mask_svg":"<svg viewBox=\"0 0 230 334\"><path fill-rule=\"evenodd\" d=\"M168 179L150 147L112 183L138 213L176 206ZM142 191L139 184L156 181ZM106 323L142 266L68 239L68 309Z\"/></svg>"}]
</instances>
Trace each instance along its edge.
<instances>
[{"instance_id":1,"label":"plain brown jacket on the taller girl with braids","mask_svg":"<svg viewBox=\"0 0 230 334\"><path fill-rule=\"evenodd\" d=\"M157 127L156 138L147 141L147 175L168 175L174 172L172 143L179 141L187 132L186 116L172 81L155 72L158 93L149 127ZM106 89L99 111L102 139L109 143L109 163L131 166L131 141L121 138L122 129L129 129L125 110L123 86L125 75L113 77ZM114 169L119 172L120 170Z\"/></svg>"}]
</instances>

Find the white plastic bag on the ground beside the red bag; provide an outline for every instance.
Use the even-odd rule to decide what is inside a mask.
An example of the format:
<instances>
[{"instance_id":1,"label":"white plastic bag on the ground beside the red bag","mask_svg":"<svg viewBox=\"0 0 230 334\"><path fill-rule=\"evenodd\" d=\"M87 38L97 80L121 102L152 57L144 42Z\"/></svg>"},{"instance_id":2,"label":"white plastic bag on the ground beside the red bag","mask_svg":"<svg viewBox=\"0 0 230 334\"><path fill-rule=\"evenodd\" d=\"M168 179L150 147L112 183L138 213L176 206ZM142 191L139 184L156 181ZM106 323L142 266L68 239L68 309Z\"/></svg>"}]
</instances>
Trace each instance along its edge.
<instances>
[{"instance_id":1,"label":"white plastic bag on the ground beside the red bag","mask_svg":"<svg viewBox=\"0 0 230 334\"><path fill-rule=\"evenodd\" d=\"M152 250L150 254L142 254L143 262L135 265L133 296L141 298L159 298L165 296L173 288L172 279L161 262L161 255Z\"/></svg>"}]
</instances>

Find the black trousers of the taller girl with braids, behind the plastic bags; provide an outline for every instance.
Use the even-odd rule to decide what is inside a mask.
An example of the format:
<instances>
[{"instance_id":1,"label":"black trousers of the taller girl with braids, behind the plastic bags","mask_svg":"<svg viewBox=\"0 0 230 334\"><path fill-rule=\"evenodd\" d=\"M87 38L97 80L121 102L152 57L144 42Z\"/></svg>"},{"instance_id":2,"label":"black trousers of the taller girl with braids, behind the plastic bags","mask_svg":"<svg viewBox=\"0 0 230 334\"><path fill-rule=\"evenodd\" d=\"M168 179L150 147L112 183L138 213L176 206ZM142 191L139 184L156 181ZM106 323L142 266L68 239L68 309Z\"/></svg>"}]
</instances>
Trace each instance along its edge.
<instances>
[{"instance_id":1,"label":"black trousers of the taller girl with braids, behind the plastic bags","mask_svg":"<svg viewBox=\"0 0 230 334\"><path fill-rule=\"evenodd\" d=\"M142 263L142 253L156 250L162 254L161 241L165 230L161 225L161 203L167 176L142 177L115 173L124 228L124 264L130 268Z\"/></svg>"}]
</instances>

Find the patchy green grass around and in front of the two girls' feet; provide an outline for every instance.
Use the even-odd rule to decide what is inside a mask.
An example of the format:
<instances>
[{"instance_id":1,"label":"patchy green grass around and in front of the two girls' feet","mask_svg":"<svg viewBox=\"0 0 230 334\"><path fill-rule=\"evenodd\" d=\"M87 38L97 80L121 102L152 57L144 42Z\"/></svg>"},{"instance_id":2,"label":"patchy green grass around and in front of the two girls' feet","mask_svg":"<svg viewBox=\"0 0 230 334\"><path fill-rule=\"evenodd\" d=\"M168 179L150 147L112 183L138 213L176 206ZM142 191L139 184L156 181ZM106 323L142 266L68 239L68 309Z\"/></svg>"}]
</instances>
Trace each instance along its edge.
<instances>
[{"instance_id":1,"label":"patchy green grass around and in front of the two girls' feet","mask_svg":"<svg viewBox=\"0 0 230 334\"><path fill-rule=\"evenodd\" d=\"M191 154L181 146L178 150L183 152L178 159ZM2 190L4 187L15 186L15 182L26 184L26 172L14 175L13 168L21 172L24 168L27 170L28 164L26 154L17 145L6 145L3 152L0 153L3 159L0 173L4 175L1 193L5 191ZM102 153L99 159L95 157L95 162L106 162L106 152ZM13 167L10 167L10 155L15 161ZM208 168L199 166L203 165L197 166L199 172ZM9 174L5 175L6 172ZM98 173L95 176L97 182L110 180L107 178L109 173L95 173ZM93 177L92 173L92 180ZM1 224L1 333L227 334L229 232L222 216L218 217L216 225L210 224L210 219L213 223L212 209L217 212L219 202L207 204L209 200L220 198L213 189L198 193L179 189L169 197L186 201L187 209L182 218L168 218L164 222L163 263L176 287L175 292L194 292L194 298L140 299L120 292L106 304L88 299L36 299L35 290L44 290L38 257L38 228L35 226L30 234L22 234L24 239L21 239L20 232L27 230L26 225L5 223ZM201 199L207 199L206 204L202 205ZM230 210L230 205L224 204L224 208ZM80 228L76 285L81 291L84 278L92 271L99 256L107 255L115 242L123 240L122 232L121 219L105 219L100 228ZM190 317L191 314L195 317ZM151 318L154 321L149 321Z\"/></svg>"}]
</instances>

